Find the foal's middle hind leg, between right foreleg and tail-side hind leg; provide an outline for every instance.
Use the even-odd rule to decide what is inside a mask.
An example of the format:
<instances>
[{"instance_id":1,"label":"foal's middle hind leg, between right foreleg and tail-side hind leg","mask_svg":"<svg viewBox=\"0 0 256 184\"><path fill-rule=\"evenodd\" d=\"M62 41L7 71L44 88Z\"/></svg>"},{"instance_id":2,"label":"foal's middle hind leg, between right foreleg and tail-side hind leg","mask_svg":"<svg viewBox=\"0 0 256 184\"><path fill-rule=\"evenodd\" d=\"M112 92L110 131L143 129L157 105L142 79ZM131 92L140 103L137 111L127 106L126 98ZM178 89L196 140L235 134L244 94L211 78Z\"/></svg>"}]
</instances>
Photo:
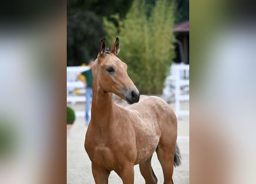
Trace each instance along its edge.
<instances>
[{"instance_id":1,"label":"foal's middle hind leg, between right foreleg and tail-side hind leg","mask_svg":"<svg viewBox=\"0 0 256 184\"><path fill-rule=\"evenodd\" d=\"M140 173L142 173L143 178L145 179L146 184L156 184L157 178L151 166L151 158L148 158L143 163L139 164Z\"/></svg>"}]
</instances>

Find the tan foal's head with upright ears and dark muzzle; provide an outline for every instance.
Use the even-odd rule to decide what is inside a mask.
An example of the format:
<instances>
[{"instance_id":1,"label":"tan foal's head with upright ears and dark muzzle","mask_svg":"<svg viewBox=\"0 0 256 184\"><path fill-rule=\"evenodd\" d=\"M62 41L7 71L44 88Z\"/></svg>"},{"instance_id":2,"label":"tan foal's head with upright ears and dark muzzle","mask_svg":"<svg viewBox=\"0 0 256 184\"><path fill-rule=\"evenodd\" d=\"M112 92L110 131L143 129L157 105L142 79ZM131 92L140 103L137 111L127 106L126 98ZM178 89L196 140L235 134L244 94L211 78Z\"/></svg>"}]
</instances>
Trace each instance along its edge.
<instances>
[{"instance_id":1,"label":"tan foal's head with upright ears and dark muzzle","mask_svg":"<svg viewBox=\"0 0 256 184\"><path fill-rule=\"evenodd\" d=\"M139 102L140 93L127 74L127 64L117 57L120 41L116 38L111 49L101 40L100 51L93 66L93 80L105 93L114 93L128 104Z\"/></svg>"}]
</instances>

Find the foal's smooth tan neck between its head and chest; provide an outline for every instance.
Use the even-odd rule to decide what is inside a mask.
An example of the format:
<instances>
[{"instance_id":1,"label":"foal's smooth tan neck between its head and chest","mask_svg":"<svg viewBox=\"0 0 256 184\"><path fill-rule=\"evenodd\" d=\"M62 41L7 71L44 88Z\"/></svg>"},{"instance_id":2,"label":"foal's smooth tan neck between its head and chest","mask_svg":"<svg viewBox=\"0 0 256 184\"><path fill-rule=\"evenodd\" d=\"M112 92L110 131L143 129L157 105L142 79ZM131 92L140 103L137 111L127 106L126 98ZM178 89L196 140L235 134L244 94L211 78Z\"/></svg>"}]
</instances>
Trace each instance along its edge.
<instances>
[{"instance_id":1,"label":"foal's smooth tan neck between its head and chest","mask_svg":"<svg viewBox=\"0 0 256 184\"><path fill-rule=\"evenodd\" d=\"M98 127L108 126L113 118L112 93L105 93L100 87L93 85L91 102L91 123Z\"/></svg>"}]
</instances>

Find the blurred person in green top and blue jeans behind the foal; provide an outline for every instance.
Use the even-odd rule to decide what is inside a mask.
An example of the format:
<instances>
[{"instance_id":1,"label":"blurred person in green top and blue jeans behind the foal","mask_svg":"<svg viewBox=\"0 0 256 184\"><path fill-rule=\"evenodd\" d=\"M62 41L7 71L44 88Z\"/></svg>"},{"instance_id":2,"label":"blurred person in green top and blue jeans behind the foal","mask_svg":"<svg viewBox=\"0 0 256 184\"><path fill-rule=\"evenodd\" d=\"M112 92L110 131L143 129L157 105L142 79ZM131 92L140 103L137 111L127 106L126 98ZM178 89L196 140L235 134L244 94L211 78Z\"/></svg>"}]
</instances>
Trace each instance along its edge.
<instances>
[{"instance_id":1,"label":"blurred person in green top and blue jeans behind the foal","mask_svg":"<svg viewBox=\"0 0 256 184\"><path fill-rule=\"evenodd\" d=\"M77 75L77 78L83 82L83 84L85 85L86 88L86 93L85 93L85 97L86 97L86 102L85 102L85 120L86 120L86 125L89 124L89 110L90 110L90 102L91 102L91 98L93 97L93 75L91 73L91 68L93 67L93 63L94 60L89 60L89 70L83 71L80 74ZM82 79L82 75L85 76L86 81L84 81Z\"/></svg>"}]
</instances>

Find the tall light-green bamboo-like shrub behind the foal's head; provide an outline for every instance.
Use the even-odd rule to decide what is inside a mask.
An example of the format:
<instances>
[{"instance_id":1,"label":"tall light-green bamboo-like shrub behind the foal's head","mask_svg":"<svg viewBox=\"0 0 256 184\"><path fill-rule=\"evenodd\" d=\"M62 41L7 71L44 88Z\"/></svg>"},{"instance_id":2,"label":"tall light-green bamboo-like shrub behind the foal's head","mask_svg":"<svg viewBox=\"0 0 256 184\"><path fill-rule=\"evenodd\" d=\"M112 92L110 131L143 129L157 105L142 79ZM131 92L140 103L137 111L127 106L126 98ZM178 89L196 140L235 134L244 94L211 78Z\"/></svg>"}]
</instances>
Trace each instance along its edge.
<instances>
[{"instance_id":1,"label":"tall light-green bamboo-like shrub behind the foal's head","mask_svg":"<svg viewBox=\"0 0 256 184\"><path fill-rule=\"evenodd\" d=\"M174 57L174 7L174 3L167 0L159 0L155 6L134 0L124 20L119 14L112 16L118 26L104 18L107 41L119 37L119 57L128 64L128 74L140 93L162 93L163 81ZM112 44L109 43L109 47Z\"/></svg>"}]
</instances>

